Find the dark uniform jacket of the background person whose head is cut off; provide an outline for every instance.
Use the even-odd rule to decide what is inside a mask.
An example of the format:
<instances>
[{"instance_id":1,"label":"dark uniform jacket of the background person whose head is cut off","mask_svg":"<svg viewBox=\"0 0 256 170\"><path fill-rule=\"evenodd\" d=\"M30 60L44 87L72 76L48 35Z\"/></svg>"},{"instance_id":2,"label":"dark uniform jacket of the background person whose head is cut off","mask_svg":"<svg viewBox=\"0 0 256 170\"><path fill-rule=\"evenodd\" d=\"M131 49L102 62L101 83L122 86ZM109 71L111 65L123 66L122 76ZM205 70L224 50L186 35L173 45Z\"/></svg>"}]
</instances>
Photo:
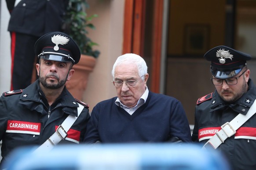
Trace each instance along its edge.
<instances>
[{"instance_id":1,"label":"dark uniform jacket of the background person whose head is cut off","mask_svg":"<svg viewBox=\"0 0 256 170\"><path fill-rule=\"evenodd\" d=\"M69 0L6 0L11 18L8 31L40 37L60 31Z\"/></svg>"}]
</instances>

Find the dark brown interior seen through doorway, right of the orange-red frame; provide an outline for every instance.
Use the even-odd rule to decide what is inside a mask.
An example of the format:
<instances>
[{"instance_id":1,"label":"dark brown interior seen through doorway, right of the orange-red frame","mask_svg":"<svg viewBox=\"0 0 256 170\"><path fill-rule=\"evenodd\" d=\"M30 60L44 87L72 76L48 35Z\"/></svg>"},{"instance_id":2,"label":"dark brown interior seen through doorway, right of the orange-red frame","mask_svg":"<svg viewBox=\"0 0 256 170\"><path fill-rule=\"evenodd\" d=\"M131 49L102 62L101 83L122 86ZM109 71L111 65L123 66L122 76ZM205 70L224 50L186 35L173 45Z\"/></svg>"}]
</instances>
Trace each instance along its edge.
<instances>
[{"instance_id":1,"label":"dark brown interior seen through doorway, right of the orange-red frame","mask_svg":"<svg viewBox=\"0 0 256 170\"><path fill-rule=\"evenodd\" d=\"M250 53L256 80L255 21L254 0L170 0L165 94L181 101L190 124L197 99L215 90L203 58L208 50L225 45Z\"/></svg>"}]
</instances>

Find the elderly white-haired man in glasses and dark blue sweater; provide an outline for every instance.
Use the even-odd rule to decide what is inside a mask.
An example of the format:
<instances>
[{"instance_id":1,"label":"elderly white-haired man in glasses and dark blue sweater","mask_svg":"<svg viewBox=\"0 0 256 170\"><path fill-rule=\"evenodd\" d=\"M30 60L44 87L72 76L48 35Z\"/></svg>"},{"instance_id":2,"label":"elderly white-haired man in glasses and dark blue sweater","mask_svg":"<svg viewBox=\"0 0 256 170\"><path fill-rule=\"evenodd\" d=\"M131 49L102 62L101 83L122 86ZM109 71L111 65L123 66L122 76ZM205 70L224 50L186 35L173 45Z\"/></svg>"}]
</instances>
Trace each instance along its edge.
<instances>
[{"instance_id":1,"label":"elderly white-haired man in glasses and dark blue sweater","mask_svg":"<svg viewBox=\"0 0 256 170\"><path fill-rule=\"evenodd\" d=\"M190 142L190 127L179 100L150 92L145 60L128 53L112 70L117 96L91 112L84 142Z\"/></svg>"}]
</instances>

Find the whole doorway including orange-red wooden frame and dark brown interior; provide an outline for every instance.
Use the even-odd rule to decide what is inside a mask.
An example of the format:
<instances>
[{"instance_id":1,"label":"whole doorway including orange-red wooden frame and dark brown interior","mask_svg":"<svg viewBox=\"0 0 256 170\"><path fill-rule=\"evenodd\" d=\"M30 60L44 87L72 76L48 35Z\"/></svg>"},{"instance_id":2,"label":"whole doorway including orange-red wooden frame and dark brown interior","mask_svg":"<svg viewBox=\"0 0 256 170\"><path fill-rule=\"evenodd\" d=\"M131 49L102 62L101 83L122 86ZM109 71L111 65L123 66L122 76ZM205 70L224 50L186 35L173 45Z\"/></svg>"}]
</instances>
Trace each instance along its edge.
<instances>
[{"instance_id":1,"label":"whole doorway including orange-red wooden frame and dark brown interior","mask_svg":"<svg viewBox=\"0 0 256 170\"><path fill-rule=\"evenodd\" d=\"M179 99L192 125L197 99L215 89L203 58L208 50L250 53L256 82L255 0L126 0L124 17L123 53L145 58L149 89Z\"/></svg>"}]
</instances>

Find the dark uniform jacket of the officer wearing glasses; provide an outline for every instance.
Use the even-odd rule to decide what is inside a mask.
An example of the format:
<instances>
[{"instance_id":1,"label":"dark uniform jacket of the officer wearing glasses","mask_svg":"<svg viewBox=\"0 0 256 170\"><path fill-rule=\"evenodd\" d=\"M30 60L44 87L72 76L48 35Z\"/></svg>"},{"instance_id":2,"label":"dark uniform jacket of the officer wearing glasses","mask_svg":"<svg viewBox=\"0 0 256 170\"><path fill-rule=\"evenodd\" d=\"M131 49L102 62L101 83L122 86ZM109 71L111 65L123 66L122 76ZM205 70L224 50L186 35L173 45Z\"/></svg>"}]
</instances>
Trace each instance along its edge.
<instances>
[{"instance_id":1,"label":"dark uniform jacket of the officer wearing glasses","mask_svg":"<svg viewBox=\"0 0 256 170\"><path fill-rule=\"evenodd\" d=\"M225 103L216 91L197 100L193 141L205 144L223 124L233 120L238 113L248 112L256 99L256 87L251 79L248 84L248 91L234 103ZM256 170L256 114L217 150L227 157L232 170Z\"/></svg>"}]
</instances>

